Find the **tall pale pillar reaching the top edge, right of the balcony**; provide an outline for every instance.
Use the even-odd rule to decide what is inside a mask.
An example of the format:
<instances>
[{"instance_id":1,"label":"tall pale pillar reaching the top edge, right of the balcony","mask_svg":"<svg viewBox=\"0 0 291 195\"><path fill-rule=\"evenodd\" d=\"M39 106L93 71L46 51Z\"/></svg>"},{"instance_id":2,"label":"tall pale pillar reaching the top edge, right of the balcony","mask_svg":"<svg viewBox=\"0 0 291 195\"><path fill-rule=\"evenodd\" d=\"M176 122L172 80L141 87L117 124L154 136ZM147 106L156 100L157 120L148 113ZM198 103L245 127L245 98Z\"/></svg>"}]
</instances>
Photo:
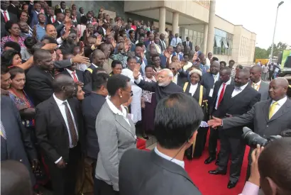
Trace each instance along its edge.
<instances>
[{"instance_id":1,"label":"tall pale pillar reaching the top edge, right of the balcony","mask_svg":"<svg viewBox=\"0 0 291 195\"><path fill-rule=\"evenodd\" d=\"M208 36L207 36L207 53L213 52L215 4L216 4L216 1L210 1Z\"/></svg>"}]
</instances>

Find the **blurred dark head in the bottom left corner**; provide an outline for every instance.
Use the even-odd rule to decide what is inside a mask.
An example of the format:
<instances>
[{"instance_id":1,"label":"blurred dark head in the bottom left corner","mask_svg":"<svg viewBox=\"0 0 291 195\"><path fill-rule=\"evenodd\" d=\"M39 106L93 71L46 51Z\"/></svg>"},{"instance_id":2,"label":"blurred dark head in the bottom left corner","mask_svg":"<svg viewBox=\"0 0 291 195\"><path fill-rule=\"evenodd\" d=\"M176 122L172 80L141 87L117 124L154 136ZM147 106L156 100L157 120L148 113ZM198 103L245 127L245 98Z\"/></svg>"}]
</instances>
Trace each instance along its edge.
<instances>
[{"instance_id":1,"label":"blurred dark head in the bottom left corner","mask_svg":"<svg viewBox=\"0 0 291 195\"><path fill-rule=\"evenodd\" d=\"M1 178L1 194L33 194L28 169L21 162L1 161Z\"/></svg>"}]
</instances>

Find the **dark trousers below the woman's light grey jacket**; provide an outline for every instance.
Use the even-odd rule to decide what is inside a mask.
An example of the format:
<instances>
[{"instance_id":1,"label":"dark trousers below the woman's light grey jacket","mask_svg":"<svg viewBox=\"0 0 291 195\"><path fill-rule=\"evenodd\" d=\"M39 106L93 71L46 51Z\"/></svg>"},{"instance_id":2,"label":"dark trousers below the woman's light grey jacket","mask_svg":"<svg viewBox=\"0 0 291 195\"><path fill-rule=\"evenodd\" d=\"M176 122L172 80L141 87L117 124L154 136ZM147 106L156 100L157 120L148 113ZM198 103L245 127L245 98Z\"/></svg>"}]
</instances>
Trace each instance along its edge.
<instances>
[{"instance_id":1,"label":"dark trousers below the woman's light grey jacket","mask_svg":"<svg viewBox=\"0 0 291 195\"><path fill-rule=\"evenodd\" d=\"M94 195L119 195L119 191L114 191L111 185L94 177Z\"/></svg>"}]
</instances>

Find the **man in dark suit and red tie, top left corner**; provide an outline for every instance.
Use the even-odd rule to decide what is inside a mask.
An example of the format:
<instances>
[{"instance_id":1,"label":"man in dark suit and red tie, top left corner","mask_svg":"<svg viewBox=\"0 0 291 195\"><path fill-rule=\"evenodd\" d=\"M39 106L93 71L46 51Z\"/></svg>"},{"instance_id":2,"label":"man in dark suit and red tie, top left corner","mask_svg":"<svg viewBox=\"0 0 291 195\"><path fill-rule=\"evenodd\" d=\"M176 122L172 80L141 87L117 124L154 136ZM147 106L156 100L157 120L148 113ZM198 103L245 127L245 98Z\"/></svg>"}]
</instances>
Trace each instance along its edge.
<instances>
[{"instance_id":1,"label":"man in dark suit and red tie, top left corner","mask_svg":"<svg viewBox=\"0 0 291 195\"><path fill-rule=\"evenodd\" d=\"M9 1L1 1L1 37L5 36L6 30L5 30L5 23L8 21L11 21L13 23L17 23L17 16L12 13L9 9Z\"/></svg>"}]
</instances>

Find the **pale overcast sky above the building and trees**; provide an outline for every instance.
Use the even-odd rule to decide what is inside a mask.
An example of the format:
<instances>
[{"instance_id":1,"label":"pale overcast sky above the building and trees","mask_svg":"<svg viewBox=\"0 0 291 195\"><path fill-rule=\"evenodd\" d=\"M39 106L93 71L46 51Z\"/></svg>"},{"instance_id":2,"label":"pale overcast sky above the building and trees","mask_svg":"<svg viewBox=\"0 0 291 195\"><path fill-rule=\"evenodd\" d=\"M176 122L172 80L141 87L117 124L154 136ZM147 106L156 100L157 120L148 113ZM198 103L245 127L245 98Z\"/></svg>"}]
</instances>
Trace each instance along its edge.
<instances>
[{"instance_id":1,"label":"pale overcast sky above the building and trees","mask_svg":"<svg viewBox=\"0 0 291 195\"><path fill-rule=\"evenodd\" d=\"M216 15L256 33L256 46L268 49L273 40L280 0L216 0ZM291 46L291 0L279 7L274 43Z\"/></svg>"}]
</instances>

